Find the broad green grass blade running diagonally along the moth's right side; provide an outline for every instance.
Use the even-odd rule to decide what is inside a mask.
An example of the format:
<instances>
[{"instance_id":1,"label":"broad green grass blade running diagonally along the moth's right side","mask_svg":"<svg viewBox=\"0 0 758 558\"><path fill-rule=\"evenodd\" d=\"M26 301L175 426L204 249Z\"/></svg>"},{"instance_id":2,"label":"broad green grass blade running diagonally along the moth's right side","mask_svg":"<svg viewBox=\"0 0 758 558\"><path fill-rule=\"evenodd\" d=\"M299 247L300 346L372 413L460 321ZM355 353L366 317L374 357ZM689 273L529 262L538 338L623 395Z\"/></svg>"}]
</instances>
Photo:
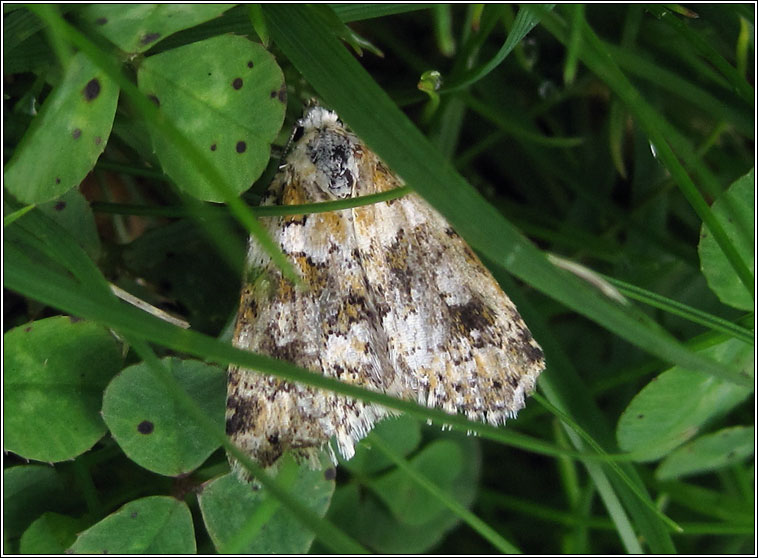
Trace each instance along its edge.
<instances>
[{"instance_id":1,"label":"broad green grass blade running diagonally along the moth's right side","mask_svg":"<svg viewBox=\"0 0 758 558\"><path fill-rule=\"evenodd\" d=\"M272 39L322 98L409 186L492 262L644 350L688 369L751 383L693 354L652 320L629 312L549 264L419 132L307 6L266 4ZM493 242L493 239L498 239Z\"/></svg>"}]
</instances>

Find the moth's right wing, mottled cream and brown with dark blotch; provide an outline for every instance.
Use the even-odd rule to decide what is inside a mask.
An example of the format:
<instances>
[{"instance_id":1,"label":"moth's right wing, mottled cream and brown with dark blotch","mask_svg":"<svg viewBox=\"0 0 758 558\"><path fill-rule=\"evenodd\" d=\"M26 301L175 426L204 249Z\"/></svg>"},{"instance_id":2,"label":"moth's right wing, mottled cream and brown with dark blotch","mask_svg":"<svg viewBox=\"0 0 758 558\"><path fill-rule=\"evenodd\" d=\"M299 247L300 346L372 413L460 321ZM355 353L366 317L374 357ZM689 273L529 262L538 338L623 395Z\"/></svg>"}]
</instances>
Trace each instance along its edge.
<instances>
[{"instance_id":1,"label":"moth's right wing, mottled cream and brown with dark blotch","mask_svg":"<svg viewBox=\"0 0 758 558\"><path fill-rule=\"evenodd\" d=\"M365 195L400 186L365 158ZM369 290L389 358L419 403L501 424L524 406L544 368L515 305L465 241L416 194L353 209Z\"/></svg>"}]
</instances>

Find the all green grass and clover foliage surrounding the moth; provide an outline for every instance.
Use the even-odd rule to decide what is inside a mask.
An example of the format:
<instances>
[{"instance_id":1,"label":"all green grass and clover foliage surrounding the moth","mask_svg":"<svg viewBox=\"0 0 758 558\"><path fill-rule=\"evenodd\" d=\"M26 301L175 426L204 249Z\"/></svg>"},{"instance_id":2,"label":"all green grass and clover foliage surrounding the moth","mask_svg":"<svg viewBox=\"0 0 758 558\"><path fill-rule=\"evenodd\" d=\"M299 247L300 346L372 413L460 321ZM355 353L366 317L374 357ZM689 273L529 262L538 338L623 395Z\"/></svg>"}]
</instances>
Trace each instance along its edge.
<instances>
[{"instance_id":1,"label":"all green grass and clover foliage surrounding the moth","mask_svg":"<svg viewBox=\"0 0 758 558\"><path fill-rule=\"evenodd\" d=\"M751 552L754 21L694 8L7 9L4 551ZM228 345L243 229L272 247L239 195L314 96L483 256L552 415L445 421ZM406 414L336 481L256 489L218 450L229 362Z\"/></svg>"}]
</instances>

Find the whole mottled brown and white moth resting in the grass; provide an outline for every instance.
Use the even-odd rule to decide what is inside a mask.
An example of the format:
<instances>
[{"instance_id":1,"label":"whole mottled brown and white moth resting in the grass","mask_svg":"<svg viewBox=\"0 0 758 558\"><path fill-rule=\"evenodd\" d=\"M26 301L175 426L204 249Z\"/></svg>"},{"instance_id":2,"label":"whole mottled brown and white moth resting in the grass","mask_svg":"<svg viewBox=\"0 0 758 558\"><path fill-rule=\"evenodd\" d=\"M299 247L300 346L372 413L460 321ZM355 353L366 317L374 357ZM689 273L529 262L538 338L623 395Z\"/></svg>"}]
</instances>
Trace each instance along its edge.
<instances>
[{"instance_id":1,"label":"whole mottled brown and white moth resting in the grass","mask_svg":"<svg viewBox=\"0 0 758 558\"><path fill-rule=\"evenodd\" d=\"M336 113L314 105L298 120L262 205L402 185ZM265 226L305 287L284 278L251 238L236 347L493 425L524 406L545 367L542 350L474 252L420 196L266 218ZM229 368L227 434L263 467L287 450L318 467L331 438L349 459L356 442L390 413Z\"/></svg>"}]
</instances>

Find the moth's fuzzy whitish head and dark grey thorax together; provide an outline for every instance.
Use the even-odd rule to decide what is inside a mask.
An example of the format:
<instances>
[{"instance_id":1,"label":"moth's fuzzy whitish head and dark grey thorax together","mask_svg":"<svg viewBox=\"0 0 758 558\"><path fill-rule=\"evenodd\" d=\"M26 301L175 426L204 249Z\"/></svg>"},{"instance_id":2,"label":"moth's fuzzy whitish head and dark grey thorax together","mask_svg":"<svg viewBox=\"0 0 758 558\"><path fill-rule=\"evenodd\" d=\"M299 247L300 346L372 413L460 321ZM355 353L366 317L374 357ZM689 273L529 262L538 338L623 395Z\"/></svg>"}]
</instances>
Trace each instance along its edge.
<instances>
[{"instance_id":1,"label":"moth's fuzzy whitish head and dark grey thorax together","mask_svg":"<svg viewBox=\"0 0 758 558\"><path fill-rule=\"evenodd\" d=\"M298 120L291 141L298 164L311 167L310 175L320 190L331 198L350 196L358 180L356 139L336 113L310 107Z\"/></svg>"}]
</instances>

